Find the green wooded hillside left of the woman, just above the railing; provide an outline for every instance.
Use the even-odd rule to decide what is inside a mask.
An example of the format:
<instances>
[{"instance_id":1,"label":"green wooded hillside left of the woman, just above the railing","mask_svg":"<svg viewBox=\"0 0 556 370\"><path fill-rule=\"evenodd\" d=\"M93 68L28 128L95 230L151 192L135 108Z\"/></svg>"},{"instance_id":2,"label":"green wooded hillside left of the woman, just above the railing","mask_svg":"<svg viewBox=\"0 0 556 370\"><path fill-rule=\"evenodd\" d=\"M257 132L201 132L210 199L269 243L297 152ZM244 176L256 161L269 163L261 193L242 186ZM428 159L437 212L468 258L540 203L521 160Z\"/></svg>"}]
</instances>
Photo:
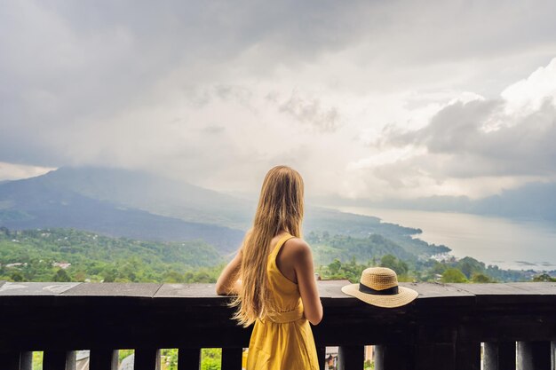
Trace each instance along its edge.
<instances>
[{"instance_id":1,"label":"green wooded hillside left of the woman, just above the railing","mask_svg":"<svg viewBox=\"0 0 556 370\"><path fill-rule=\"evenodd\" d=\"M12 281L210 282L223 258L201 241L109 238L67 229L0 228L0 279Z\"/></svg>"}]
</instances>

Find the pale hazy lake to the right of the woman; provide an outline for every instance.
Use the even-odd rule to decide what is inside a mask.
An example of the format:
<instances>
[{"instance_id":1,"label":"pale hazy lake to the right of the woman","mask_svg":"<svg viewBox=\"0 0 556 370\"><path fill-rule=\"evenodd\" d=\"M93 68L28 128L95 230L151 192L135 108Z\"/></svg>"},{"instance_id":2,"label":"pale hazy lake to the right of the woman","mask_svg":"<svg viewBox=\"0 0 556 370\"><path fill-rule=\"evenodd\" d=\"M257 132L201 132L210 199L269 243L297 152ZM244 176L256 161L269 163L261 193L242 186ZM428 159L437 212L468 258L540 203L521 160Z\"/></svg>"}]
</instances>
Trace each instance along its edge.
<instances>
[{"instance_id":1,"label":"pale hazy lake to the right of the woman","mask_svg":"<svg viewBox=\"0 0 556 370\"><path fill-rule=\"evenodd\" d=\"M556 270L556 224L464 213L336 207L383 222L423 230L415 237L444 244L457 257L471 256L504 269Z\"/></svg>"}]
</instances>

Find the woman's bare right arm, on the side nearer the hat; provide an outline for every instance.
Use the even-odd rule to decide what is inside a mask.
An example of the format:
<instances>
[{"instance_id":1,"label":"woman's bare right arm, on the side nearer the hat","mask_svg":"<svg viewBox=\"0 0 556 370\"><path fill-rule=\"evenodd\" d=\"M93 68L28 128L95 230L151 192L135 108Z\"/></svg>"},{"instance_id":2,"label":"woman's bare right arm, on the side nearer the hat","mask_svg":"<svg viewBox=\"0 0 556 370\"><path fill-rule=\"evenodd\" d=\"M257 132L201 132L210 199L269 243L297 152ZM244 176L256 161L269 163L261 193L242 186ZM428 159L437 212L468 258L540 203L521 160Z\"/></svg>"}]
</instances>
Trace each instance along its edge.
<instances>
[{"instance_id":1,"label":"woman's bare right arm, on the side nearer the hat","mask_svg":"<svg viewBox=\"0 0 556 370\"><path fill-rule=\"evenodd\" d=\"M299 294L303 301L305 317L311 324L317 325L322 320L322 303L314 279L311 248L300 239L295 239L292 247L294 247L294 269L298 278Z\"/></svg>"}]
</instances>

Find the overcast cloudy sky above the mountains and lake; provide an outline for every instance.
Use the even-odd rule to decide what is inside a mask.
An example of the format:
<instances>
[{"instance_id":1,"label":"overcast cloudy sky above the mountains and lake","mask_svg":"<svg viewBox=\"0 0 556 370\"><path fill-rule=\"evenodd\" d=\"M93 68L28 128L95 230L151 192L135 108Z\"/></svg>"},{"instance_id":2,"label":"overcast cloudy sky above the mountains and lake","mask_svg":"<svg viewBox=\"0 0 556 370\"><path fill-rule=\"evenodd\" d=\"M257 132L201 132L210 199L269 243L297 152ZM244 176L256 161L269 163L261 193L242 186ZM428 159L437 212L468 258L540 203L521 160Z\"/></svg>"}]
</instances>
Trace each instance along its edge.
<instances>
[{"instance_id":1,"label":"overcast cloudy sky above the mountains and lake","mask_svg":"<svg viewBox=\"0 0 556 370\"><path fill-rule=\"evenodd\" d=\"M256 192L556 181L556 2L5 1L0 180L145 169Z\"/></svg>"}]
</instances>

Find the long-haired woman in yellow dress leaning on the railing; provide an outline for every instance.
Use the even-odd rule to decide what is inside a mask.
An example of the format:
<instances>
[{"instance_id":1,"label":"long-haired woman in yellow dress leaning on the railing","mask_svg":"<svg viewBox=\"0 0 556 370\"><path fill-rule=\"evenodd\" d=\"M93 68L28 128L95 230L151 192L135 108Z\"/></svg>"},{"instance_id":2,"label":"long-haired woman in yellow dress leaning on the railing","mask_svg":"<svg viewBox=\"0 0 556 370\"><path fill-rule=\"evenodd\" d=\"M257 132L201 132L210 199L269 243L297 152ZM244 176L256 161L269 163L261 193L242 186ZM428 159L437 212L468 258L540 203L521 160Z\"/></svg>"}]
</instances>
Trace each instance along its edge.
<instances>
[{"instance_id":1,"label":"long-haired woman in yellow dress leaning on the railing","mask_svg":"<svg viewBox=\"0 0 556 370\"><path fill-rule=\"evenodd\" d=\"M268 171L253 227L220 274L218 295L236 295L234 319L255 323L248 370L317 370L313 332L322 319L311 248L301 239L303 179L286 166Z\"/></svg>"}]
</instances>

